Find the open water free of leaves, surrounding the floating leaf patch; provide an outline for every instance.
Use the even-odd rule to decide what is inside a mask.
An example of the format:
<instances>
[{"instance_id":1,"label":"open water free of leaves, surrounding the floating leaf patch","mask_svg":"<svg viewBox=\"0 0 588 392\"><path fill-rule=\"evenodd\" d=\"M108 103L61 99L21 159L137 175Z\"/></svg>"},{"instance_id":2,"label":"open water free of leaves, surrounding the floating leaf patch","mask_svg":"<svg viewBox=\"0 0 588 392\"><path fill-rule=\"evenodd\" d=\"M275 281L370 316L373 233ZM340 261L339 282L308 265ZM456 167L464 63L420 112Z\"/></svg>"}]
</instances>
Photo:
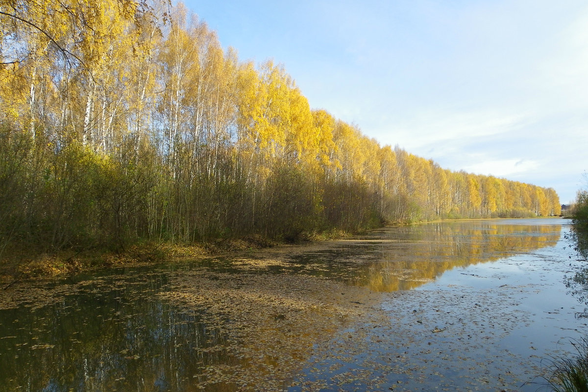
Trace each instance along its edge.
<instances>
[{"instance_id":1,"label":"open water free of leaves, surrounding the floating leaf patch","mask_svg":"<svg viewBox=\"0 0 588 392\"><path fill-rule=\"evenodd\" d=\"M178 292L174 282L179 277L201 273L212 274L206 275L211 277L209 280L221 282L230 282L230 276L239 281L269 274L312 276L362 287L366 292L382 293L381 309L390 317L397 317L394 312L400 311L401 299L394 294L399 290L409 290L406 298L413 293L421 305L428 304L425 308L433 309L435 296L447 298L455 292L473 296L483 290L496 290L494 296L485 297L496 299L500 298L499 288L524 286L509 292L507 306L517 311L524 309L526 319L517 321L516 327L505 327L507 332L493 344L538 362L550 350L561 348L562 338L579 337L586 327L585 320L574 317L582 312L583 305L567 295L564 286L565 276L579 266L564 238L567 231L569 225L564 219L433 222L380 229L309 247L270 249L256 256L109 270L13 285L3 290L0 300L0 391L199 391L204 388L198 384L202 377L212 377L210 370L217 367L225 369L225 378L209 383L205 390L255 390L254 384L231 380L227 374L226 369L250 366L248 357L227 349L237 339L230 328L219 327L230 326L232 316L228 315L232 313L214 315L220 322L210 323L210 307L162 299L163 293ZM515 295L516 291L520 294ZM488 312L503 312L505 306L490 306ZM417 310L426 312L412 309L403 316L407 342L423 325L422 320L410 318ZM449 325L446 319L436 322ZM409 328L412 323L413 329ZM443 327L439 325L438 329ZM277 327L274 329L281 333ZM459 339L457 334L453 337ZM333 337L333 344L336 339ZM449 337L439 342L453 344ZM442 344L439 342L435 344ZM295 342L288 347L297 350ZM396 357L398 350L382 344L374 347L382 358ZM418 348L416 344L410 347ZM266 355L255 351L263 350L263 346L248 350L252 356ZM487 349L479 354L490 360L495 355ZM433 360L439 354L428 355ZM308 365L305 361L309 361ZM332 381L342 374L341 369L349 370L351 365L333 366L332 361L320 362L316 356L300 357L299 362L302 380L331 380L323 383L324 390L378 390L367 381L349 385ZM378 363L382 364L382 360ZM278 365L268 362L267 377L272 377L271 366ZM316 366L333 370L316 373L312 370ZM202 376L205 373L208 376ZM488 371L490 376L491 373ZM389 390L400 381L407 384L413 380L402 375L401 364L391 374L383 371L377 387ZM459 382L453 380L458 377L459 372L445 374L445 378L452 379L450 384L459 389ZM525 377L532 379L531 374L522 378ZM411 388L420 386L426 390L425 379L430 377L410 381ZM304 385L303 381L295 382L290 388L305 390ZM284 384L284 388L289 386L290 381ZM509 387L516 390L515 386Z\"/></svg>"}]
</instances>

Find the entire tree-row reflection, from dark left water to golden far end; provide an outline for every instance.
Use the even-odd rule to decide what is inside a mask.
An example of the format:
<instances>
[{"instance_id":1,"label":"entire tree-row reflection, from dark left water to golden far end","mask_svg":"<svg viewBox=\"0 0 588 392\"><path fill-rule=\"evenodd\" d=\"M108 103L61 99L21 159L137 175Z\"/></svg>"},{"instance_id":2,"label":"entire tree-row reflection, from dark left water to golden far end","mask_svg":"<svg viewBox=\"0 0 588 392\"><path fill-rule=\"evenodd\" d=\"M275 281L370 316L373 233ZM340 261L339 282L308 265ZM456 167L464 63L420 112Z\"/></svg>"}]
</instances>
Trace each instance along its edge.
<instances>
[{"instance_id":1,"label":"entire tree-row reflection, from dark left water to golden far end","mask_svg":"<svg viewBox=\"0 0 588 392\"><path fill-rule=\"evenodd\" d=\"M0 295L0 391L253 391L272 377L280 388L314 344L361 316L362 287L412 289L560 236L560 222L506 222L14 285Z\"/></svg>"}]
</instances>

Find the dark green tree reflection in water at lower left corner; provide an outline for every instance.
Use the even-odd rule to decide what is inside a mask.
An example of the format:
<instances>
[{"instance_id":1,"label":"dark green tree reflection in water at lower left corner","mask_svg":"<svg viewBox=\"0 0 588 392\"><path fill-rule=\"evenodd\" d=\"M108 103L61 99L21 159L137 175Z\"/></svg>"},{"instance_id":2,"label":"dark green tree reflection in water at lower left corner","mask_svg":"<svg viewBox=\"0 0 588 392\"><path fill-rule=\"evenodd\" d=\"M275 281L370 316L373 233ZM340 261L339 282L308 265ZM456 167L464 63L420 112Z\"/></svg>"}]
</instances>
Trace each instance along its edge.
<instances>
[{"instance_id":1,"label":"dark green tree reflection in water at lower left corner","mask_svg":"<svg viewBox=\"0 0 588 392\"><path fill-rule=\"evenodd\" d=\"M226 336L201 310L153 297L160 283L157 274L116 276L76 285L54 305L3 310L0 390L196 390L192 374L235 360L208 350Z\"/></svg>"}]
</instances>

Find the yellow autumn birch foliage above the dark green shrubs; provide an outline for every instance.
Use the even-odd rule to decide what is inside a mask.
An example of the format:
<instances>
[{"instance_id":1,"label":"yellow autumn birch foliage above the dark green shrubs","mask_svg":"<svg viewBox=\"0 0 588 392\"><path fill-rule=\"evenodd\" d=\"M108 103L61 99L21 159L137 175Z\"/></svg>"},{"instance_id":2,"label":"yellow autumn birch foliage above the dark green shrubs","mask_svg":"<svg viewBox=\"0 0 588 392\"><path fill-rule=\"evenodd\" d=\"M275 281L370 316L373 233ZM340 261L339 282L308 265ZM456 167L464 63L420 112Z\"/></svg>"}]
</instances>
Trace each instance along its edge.
<instances>
[{"instance_id":1,"label":"yellow autumn birch foliage above the dark green shrubs","mask_svg":"<svg viewBox=\"0 0 588 392\"><path fill-rule=\"evenodd\" d=\"M256 191L276 167L295 169L312 181L316 211L326 200L319 184L336 183L402 218L560 213L551 188L452 173L311 110L282 65L239 62L182 4L0 0L0 9L9 14L0 16L0 55L21 53L0 67L0 120L45 132L49 148L78 143L105 172L107 156L139 160L148 146L162 177L181 173L187 188L199 175L219 184L242 173Z\"/></svg>"}]
</instances>

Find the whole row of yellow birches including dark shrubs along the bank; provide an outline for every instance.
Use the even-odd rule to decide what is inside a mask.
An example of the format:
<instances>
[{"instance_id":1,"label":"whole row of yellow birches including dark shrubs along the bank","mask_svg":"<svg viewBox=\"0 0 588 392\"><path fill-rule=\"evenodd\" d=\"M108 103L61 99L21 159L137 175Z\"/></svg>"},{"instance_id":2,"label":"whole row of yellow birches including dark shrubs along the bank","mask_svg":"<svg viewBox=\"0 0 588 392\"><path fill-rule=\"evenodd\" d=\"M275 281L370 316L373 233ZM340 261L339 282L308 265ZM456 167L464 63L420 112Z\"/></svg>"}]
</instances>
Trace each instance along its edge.
<instances>
[{"instance_id":1,"label":"whole row of yellow birches including dark shrubs along the bank","mask_svg":"<svg viewBox=\"0 0 588 392\"><path fill-rule=\"evenodd\" d=\"M0 250L125 248L559 215L311 110L181 4L0 0Z\"/></svg>"}]
</instances>

